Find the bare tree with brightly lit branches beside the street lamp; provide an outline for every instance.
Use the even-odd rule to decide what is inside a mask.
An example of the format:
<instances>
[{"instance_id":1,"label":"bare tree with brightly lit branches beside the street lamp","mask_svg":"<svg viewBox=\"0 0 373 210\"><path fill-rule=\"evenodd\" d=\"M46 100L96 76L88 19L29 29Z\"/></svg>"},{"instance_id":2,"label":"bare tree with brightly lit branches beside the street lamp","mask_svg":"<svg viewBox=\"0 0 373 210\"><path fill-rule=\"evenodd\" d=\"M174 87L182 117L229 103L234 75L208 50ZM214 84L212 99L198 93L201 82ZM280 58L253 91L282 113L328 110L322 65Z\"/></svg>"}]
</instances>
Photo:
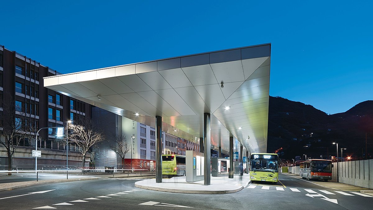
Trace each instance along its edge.
<instances>
[{"instance_id":1,"label":"bare tree with brightly lit branches beside the street lamp","mask_svg":"<svg viewBox=\"0 0 373 210\"><path fill-rule=\"evenodd\" d=\"M90 120L85 120L80 125L68 124L68 129L68 143L73 143L78 146L79 152L83 155L82 163L84 167L87 152L91 150L95 143L104 140L104 136L101 135L101 132L93 128Z\"/></svg>"}]
</instances>

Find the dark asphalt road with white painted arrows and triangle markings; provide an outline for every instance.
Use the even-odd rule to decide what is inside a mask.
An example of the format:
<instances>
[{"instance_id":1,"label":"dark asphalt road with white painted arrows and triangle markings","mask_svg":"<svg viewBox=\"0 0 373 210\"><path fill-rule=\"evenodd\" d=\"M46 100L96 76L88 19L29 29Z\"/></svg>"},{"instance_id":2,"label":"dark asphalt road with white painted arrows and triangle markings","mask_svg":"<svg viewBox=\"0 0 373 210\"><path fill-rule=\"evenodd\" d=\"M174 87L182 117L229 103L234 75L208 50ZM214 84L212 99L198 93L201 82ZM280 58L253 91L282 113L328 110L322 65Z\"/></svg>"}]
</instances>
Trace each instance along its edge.
<instances>
[{"instance_id":1,"label":"dark asphalt road with white painted arrows and triangle markings","mask_svg":"<svg viewBox=\"0 0 373 210\"><path fill-rule=\"evenodd\" d=\"M318 182L315 184L293 176L281 174L279 178L280 182L276 185L251 183L239 192L217 195L139 189L134 186L138 180L126 178L106 177L98 180L51 183L0 192L0 209L33 209L47 206L63 210L189 209L187 207L234 210L371 209L369 205L373 202L373 197L326 188L317 185ZM31 194L40 191L48 192Z\"/></svg>"}]
</instances>

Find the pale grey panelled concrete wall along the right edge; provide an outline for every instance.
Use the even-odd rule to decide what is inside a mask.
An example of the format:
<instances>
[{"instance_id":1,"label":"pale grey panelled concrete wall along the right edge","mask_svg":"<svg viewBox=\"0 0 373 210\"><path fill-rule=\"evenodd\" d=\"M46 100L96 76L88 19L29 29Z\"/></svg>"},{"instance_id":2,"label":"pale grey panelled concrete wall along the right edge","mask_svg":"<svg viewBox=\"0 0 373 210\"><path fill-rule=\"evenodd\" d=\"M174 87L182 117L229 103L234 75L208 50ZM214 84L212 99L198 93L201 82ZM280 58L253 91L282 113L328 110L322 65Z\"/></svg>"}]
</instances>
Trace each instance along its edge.
<instances>
[{"instance_id":1,"label":"pale grey panelled concrete wall along the right edge","mask_svg":"<svg viewBox=\"0 0 373 210\"><path fill-rule=\"evenodd\" d=\"M339 182L373 188L373 160L345 161L339 164ZM337 163L333 163L333 179L337 180Z\"/></svg>"}]
</instances>

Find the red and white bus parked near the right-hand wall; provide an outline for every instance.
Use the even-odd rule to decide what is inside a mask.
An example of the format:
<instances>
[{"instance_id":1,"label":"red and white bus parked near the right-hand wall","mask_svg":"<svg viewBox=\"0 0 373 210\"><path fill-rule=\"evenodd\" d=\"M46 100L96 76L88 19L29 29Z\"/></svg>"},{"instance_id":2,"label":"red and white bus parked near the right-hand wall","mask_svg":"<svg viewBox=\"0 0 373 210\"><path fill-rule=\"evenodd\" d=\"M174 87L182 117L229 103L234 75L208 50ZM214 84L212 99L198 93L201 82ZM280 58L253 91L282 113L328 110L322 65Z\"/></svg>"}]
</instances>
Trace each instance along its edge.
<instances>
[{"instance_id":1,"label":"red and white bus parked near the right-hand wall","mask_svg":"<svg viewBox=\"0 0 373 210\"><path fill-rule=\"evenodd\" d=\"M303 179L322 179L325 182L332 179L332 161L311 159L300 163L299 175Z\"/></svg>"}]
</instances>

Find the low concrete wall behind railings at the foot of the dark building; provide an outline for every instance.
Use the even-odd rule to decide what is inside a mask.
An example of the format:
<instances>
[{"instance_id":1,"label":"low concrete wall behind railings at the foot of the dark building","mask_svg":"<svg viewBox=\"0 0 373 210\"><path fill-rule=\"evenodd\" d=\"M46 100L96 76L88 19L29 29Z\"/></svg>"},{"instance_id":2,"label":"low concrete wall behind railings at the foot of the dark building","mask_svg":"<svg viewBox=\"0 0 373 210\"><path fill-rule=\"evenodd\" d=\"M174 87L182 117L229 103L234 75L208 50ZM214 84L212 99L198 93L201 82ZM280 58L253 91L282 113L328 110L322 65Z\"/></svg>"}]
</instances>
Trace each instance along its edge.
<instances>
[{"instance_id":1,"label":"low concrete wall behind railings at the foot of the dark building","mask_svg":"<svg viewBox=\"0 0 373 210\"><path fill-rule=\"evenodd\" d=\"M28 146L18 146L13 155L13 166L17 166L18 170L35 170L35 157L32 157L32 150L35 148ZM66 166L66 150L59 149L44 149L38 148L41 151L41 157L38 158L38 169L54 169ZM4 146L0 146L1 166L0 170L7 170L8 156ZM69 151L69 168L70 166L82 167L82 154L80 152ZM89 166L91 154L88 153L85 158L85 167ZM16 169L16 167L13 167Z\"/></svg>"}]
</instances>

